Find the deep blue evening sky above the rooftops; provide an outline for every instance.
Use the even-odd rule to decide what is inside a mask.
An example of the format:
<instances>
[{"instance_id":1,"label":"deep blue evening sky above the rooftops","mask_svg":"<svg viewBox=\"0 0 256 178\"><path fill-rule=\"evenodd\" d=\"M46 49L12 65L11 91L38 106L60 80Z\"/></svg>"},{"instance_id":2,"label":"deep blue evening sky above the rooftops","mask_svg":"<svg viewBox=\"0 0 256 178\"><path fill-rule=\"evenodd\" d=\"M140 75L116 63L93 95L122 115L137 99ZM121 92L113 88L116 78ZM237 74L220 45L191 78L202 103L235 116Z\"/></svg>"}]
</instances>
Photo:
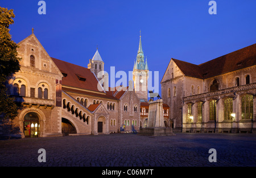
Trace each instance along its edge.
<instances>
[{"instance_id":1,"label":"deep blue evening sky above the rooftops","mask_svg":"<svg viewBox=\"0 0 256 178\"><path fill-rule=\"evenodd\" d=\"M141 30L148 67L159 71L159 92L171 57L201 64L256 42L253 0L216 0L216 15L208 13L209 0L46 0L46 15L38 14L38 2L0 1L14 9L10 33L16 43L34 27L51 57L87 67L98 45L105 71L115 66L128 72Z\"/></svg>"}]
</instances>

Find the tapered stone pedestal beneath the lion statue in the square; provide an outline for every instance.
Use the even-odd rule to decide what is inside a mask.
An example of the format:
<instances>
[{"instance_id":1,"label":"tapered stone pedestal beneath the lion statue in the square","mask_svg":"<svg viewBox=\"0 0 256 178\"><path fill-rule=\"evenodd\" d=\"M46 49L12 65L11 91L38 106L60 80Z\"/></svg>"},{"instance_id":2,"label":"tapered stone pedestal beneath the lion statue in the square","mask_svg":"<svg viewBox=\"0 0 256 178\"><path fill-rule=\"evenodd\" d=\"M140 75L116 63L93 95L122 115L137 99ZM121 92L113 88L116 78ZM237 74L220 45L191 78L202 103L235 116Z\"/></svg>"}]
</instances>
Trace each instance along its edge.
<instances>
[{"instance_id":1,"label":"tapered stone pedestal beneath the lion statue in the square","mask_svg":"<svg viewBox=\"0 0 256 178\"><path fill-rule=\"evenodd\" d=\"M147 127L140 128L139 135L174 135L171 127L164 127L163 100L150 101L148 104Z\"/></svg>"}]
</instances>

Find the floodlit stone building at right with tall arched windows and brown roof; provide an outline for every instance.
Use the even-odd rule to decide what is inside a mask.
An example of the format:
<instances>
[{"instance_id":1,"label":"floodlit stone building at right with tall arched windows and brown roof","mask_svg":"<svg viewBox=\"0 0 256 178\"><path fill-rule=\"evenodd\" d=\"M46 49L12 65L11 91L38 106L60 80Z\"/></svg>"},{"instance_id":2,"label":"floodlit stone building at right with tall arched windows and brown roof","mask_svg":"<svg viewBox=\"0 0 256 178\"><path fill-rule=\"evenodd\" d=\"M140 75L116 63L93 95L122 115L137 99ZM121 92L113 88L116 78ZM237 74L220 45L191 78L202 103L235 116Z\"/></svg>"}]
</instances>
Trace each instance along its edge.
<instances>
[{"instance_id":1,"label":"floodlit stone building at right with tall arched windows and brown roof","mask_svg":"<svg viewBox=\"0 0 256 178\"><path fill-rule=\"evenodd\" d=\"M256 132L256 44L195 65L171 59L161 81L174 131Z\"/></svg>"}]
</instances>

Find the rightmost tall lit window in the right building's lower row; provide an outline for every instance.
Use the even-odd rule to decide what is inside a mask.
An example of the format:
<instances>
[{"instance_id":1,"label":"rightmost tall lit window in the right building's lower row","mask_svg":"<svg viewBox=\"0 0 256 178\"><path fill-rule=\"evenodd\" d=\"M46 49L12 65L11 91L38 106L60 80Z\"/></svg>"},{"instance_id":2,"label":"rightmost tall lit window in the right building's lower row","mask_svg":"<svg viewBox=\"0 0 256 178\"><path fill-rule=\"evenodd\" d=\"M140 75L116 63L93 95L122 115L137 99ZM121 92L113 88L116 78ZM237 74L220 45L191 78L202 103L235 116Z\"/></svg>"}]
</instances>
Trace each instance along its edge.
<instances>
[{"instance_id":1,"label":"rightmost tall lit window in the right building's lower row","mask_svg":"<svg viewBox=\"0 0 256 178\"><path fill-rule=\"evenodd\" d=\"M253 119L253 95L242 96L242 119Z\"/></svg>"}]
</instances>

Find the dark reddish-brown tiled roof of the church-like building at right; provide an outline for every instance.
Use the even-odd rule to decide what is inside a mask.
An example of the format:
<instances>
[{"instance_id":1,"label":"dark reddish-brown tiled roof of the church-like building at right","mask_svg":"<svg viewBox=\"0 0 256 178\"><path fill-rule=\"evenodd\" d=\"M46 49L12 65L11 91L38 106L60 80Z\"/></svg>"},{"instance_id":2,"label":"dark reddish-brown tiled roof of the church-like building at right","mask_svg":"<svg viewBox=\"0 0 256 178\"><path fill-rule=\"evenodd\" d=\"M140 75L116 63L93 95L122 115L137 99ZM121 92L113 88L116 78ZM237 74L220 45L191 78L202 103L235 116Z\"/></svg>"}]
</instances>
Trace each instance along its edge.
<instances>
[{"instance_id":1,"label":"dark reddish-brown tiled roof of the church-like building at right","mask_svg":"<svg viewBox=\"0 0 256 178\"><path fill-rule=\"evenodd\" d=\"M236 71L238 69L256 65L256 44L238 49L224 56L195 65L172 59L180 70L186 75L197 78L210 78L220 74Z\"/></svg>"}]
</instances>

